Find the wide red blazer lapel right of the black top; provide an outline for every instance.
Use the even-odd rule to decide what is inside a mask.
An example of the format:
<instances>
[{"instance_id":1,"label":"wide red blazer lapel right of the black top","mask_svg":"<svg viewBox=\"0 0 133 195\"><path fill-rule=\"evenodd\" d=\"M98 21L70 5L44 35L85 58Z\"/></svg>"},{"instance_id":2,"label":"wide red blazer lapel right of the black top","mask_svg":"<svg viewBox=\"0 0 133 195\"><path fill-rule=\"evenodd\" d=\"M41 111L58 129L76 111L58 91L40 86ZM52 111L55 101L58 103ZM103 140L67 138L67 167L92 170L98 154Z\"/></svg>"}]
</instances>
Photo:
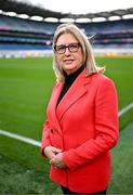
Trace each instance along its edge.
<instances>
[{"instance_id":1,"label":"wide red blazer lapel right of the black top","mask_svg":"<svg viewBox=\"0 0 133 195\"><path fill-rule=\"evenodd\" d=\"M88 90L85 84L89 84L91 76L85 76L84 70L78 76L72 86L69 88L67 93L64 95L56 108L56 115L58 121L62 119L63 115L67 109L77 102L82 95L84 95Z\"/></svg>"}]
</instances>

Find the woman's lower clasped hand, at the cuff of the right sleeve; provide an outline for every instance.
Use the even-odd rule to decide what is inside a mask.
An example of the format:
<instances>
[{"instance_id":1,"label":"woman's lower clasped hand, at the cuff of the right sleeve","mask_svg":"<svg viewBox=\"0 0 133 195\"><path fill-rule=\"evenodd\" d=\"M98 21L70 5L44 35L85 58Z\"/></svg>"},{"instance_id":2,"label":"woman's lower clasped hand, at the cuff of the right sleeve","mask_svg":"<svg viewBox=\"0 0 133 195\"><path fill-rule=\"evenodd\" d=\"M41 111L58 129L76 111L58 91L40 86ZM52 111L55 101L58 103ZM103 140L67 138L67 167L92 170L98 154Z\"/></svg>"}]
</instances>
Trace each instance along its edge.
<instances>
[{"instance_id":1,"label":"woman's lower clasped hand, at the cuff of the right sleeve","mask_svg":"<svg viewBox=\"0 0 133 195\"><path fill-rule=\"evenodd\" d=\"M67 166L65 165L63 160L63 153L58 153L51 158L50 164L56 168L65 169Z\"/></svg>"}]
</instances>

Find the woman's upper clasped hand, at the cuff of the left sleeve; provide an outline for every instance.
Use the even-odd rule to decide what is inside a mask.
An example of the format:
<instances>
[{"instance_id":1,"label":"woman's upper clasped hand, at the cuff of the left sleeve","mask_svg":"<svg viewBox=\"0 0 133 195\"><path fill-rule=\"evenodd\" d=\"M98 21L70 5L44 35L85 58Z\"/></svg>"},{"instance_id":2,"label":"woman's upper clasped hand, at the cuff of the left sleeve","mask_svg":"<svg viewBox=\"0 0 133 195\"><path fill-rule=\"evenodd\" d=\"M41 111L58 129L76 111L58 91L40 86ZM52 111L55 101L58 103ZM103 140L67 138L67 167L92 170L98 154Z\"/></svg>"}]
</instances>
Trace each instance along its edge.
<instances>
[{"instance_id":1,"label":"woman's upper clasped hand, at the cuff of the left sleeve","mask_svg":"<svg viewBox=\"0 0 133 195\"><path fill-rule=\"evenodd\" d=\"M54 146L46 146L44 150L43 150L43 153L44 155L49 158L49 159L52 159L54 158L58 153L61 153L62 150L59 148L56 148Z\"/></svg>"}]
</instances>

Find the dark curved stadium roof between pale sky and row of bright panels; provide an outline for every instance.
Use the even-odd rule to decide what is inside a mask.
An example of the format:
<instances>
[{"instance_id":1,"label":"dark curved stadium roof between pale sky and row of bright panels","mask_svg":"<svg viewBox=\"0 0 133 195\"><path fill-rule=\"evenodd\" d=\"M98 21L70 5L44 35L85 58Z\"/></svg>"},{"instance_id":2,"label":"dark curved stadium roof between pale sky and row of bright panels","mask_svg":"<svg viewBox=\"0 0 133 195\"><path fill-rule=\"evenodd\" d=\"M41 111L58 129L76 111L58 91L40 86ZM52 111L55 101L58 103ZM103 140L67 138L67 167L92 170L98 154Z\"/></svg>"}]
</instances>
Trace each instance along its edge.
<instances>
[{"instance_id":1,"label":"dark curved stadium roof between pale sky and row of bright panels","mask_svg":"<svg viewBox=\"0 0 133 195\"><path fill-rule=\"evenodd\" d=\"M57 20L61 18L96 18L104 17L108 20L110 16L124 16L128 14L133 14L133 8L125 10L114 10L109 12L98 12L98 13L88 13L88 14L71 14L71 13L62 13L62 12L53 12L50 10L45 10L43 8L39 8L37 5L31 5L28 2L18 2L15 0L0 0L0 10L3 12L15 12L16 14L27 14L30 16L41 16L43 18L46 17L55 17Z\"/></svg>"}]
</instances>

